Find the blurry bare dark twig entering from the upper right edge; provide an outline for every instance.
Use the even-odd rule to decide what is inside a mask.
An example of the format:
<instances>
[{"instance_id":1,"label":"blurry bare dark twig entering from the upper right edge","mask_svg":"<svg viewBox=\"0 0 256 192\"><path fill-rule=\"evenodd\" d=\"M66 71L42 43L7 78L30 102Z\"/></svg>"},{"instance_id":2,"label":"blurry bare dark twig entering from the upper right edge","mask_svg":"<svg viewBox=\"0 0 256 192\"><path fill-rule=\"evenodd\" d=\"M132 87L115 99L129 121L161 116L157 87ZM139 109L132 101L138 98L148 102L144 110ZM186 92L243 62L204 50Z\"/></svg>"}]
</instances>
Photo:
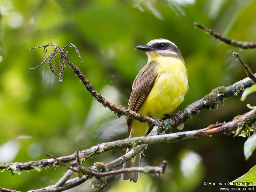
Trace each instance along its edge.
<instances>
[{"instance_id":1,"label":"blurry bare dark twig entering from the upper right edge","mask_svg":"<svg viewBox=\"0 0 256 192\"><path fill-rule=\"evenodd\" d=\"M211 36L214 36L216 39L219 39L220 41L228 44L228 45L233 45L235 47L240 47L243 49L254 49L256 48L256 42L248 42L248 41L236 41L233 39L230 39L228 37L222 36L219 33L215 32L213 29L208 29L204 27L203 25L194 22L194 25L197 28L203 29L206 33L209 33Z\"/></svg>"}]
</instances>

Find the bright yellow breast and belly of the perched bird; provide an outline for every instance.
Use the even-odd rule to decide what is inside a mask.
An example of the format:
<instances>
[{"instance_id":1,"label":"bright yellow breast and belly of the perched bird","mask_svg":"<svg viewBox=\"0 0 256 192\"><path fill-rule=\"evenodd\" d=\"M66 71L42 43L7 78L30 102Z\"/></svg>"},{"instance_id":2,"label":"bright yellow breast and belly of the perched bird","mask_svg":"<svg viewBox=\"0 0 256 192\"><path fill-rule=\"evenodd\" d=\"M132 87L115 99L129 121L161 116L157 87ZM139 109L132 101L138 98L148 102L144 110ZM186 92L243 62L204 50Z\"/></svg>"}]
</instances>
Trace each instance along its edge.
<instances>
[{"instance_id":1,"label":"bright yellow breast and belly of the perched bird","mask_svg":"<svg viewBox=\"0 0 256 192\"><path fill-rule=\"evenodd\" d=\"M158 63L155 67L157 78L139 113L163 118L164 114L172 113L184 100L188 90L188 74L180 59L159 56L154 60Z\"/></svg>"}]
</instances>

